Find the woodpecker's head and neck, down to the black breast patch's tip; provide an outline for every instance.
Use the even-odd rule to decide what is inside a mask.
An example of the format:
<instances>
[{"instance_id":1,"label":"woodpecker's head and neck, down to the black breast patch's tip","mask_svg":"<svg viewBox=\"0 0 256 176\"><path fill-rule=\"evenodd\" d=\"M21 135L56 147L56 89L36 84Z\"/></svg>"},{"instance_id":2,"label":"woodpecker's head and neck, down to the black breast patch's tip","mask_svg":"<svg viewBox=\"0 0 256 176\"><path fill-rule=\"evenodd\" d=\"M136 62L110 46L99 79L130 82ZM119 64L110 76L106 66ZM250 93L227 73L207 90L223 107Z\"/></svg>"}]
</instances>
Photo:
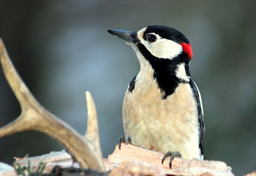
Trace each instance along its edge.
<instances>
[{"instance_id":1,"label":"woodpecker's head and neck, down to the black breast patch's tip","mask_svg":"<svg viewBox=\"0 0 256 176\"><path fill-rule=\"evenodd\" d=\"M171 95L178 83L191 81L191 45L178 30L152 25L138 32L108 30L108 33L124 40L135 50L144 80L153 77L163 93L163 98Z\"/></svg>"}]
</instances>

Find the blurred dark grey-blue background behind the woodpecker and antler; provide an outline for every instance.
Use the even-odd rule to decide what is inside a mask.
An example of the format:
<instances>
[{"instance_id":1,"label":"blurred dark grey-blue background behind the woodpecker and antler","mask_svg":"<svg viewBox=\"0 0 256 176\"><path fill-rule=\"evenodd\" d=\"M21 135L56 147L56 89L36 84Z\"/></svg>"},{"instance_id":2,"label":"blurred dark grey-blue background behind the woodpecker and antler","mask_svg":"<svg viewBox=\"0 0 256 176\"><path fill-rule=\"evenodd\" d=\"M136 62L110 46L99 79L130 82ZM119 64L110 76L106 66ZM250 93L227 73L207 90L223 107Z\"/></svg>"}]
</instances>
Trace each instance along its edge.
<instances>
[{"instance_id":1,"label":"blurred dark grey-blue background behind the woodpecker and antler","mask_svg":"<svg viewBox=\"0 0 256 176\"><path fill-rule=\"evenodd\" d=\"M167 25L193 48L204 105L205 155L236 175L256 170L256 1L0 1L0 37L37 100L84 134L85 91L95 100L104 157L124 136L124 93L139 72L130 47L106 30ZM0 126L20 106L0 69ZM0 161L63 146L39 132L0 139Z\"/></svg>"}]
</instances>

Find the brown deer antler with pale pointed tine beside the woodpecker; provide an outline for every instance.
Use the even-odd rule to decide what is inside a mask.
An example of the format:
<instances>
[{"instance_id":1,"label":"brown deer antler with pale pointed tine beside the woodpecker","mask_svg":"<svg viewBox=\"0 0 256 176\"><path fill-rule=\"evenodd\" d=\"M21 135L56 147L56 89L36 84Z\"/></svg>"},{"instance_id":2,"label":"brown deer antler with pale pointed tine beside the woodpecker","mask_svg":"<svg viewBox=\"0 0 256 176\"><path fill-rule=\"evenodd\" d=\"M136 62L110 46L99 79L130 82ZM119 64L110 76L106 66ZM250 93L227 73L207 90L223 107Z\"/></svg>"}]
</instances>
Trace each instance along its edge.
<instances>
[{"instance_id":1,"label":"brown deer antler with pale pointed tine beside the woodpecker","mask_svg":"<svg viewBox=\"0 0 256 176\"><path fill-rule=\"evenodd\" d=\"M0 138L21 131L40 131L58 140L78 161L81 168L91 168L105 172L100 139L98 134L98 120L91 94L86 92L88 125L85 136L54 117L37 102L15 70L11 59L0 39L1 64L4 74L20 102L21 115L10 124L0 129Z\"/></svg>"}]
</instances>

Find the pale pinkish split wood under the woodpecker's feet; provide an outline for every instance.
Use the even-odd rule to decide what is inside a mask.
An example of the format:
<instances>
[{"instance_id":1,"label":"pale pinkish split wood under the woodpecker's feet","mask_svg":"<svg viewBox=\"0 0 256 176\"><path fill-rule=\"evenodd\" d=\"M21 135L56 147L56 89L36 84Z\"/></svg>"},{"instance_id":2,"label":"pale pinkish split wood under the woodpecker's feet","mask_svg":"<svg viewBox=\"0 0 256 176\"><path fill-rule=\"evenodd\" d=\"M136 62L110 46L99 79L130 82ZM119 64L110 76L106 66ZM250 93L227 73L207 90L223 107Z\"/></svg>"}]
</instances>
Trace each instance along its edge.
<instances>
[{"instance_id":1,"label":"pale pinkish split wood under the woodpecker's feet","mask_svg":"<svg viewBox=\"0 0 256 176\"><path fill-rule=\"evenodd\" d=\"M122 143L121 150L119 150L118 145L116 145L115 151L108 156L108 159L104 160L104 164L106 170L115 170L115 168L117 168L117 173L128 175L137 163L143 163L145 165L149 164L151 166L150 170L154 168L156 174L163 173L166 175L234 175L231 172L231 168L228 167L226 163L221 161L201 161L199 159L184 160L181 158L174 158L174 160L172 161L172 169L169 169L169 159L166 159L163 165L161 164L163 156L164 154L158 151L127 143ZM126 166L123 167L123 165ZM132 168L130 168L131 170L127 170L127 173L124 173L125 171L120 171L121 168L128 168L129 165L132 165ZM120 168L120 166L122 167ZM139 164L138 166L141 166L141 164ZM146 167L144 166L143 168L146 169ZM140 170L139 173L141 172L142 171Z\"/></svg>"}]
</instances>

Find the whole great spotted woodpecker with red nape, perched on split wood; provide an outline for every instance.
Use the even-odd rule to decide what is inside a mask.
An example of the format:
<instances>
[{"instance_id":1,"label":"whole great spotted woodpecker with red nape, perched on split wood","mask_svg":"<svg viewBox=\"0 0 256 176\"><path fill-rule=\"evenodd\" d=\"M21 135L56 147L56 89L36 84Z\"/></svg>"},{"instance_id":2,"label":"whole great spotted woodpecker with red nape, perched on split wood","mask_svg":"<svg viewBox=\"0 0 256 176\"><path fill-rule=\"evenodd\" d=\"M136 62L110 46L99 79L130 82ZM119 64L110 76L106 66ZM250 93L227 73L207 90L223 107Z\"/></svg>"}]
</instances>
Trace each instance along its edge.
<instances>
[{"instance_id":1,"label":"whole great spotted woodpecker with red nape, perched on split wood","mask_svg":"<svg viewBox=\"0 0 256 176\"><path fill-rule=\"evenodd\" d=\"M141 66L124 96L126 140L183 159L204 158L200 92L189 73L189 40L174 28L153 25L128 32L108 30L136 52Z\"/></svg>"}]
</instances>

